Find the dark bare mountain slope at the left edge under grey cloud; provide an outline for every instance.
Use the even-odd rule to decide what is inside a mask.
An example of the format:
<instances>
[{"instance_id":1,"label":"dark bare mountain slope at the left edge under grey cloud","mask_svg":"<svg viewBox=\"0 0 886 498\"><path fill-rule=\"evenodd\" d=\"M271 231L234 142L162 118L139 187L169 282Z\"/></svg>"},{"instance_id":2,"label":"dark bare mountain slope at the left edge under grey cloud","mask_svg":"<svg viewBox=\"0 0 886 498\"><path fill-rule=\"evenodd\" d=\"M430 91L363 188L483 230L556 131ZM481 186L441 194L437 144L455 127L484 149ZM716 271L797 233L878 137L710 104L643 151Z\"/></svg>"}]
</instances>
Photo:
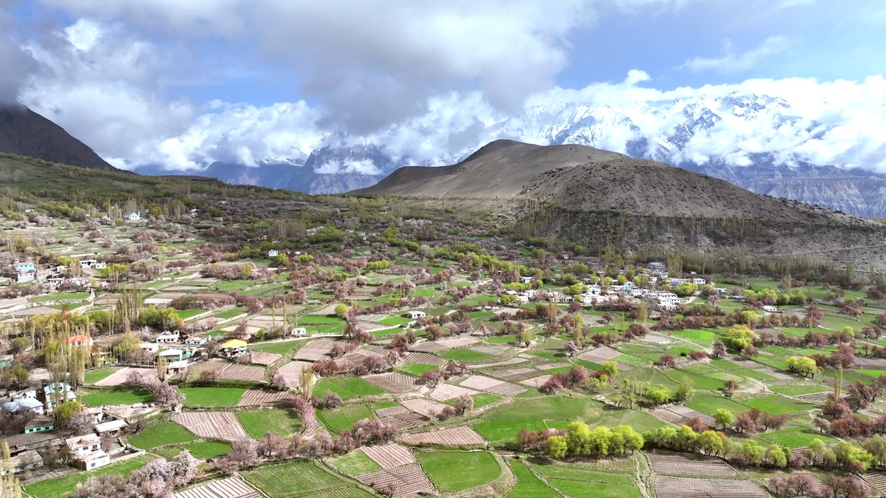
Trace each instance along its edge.
<instances>
[{"instance_id":1,"label":"dark bare mountain slope at the left edge under grey cloud","mask_svg":"<svg viewBox=\"0 0 886 498\"><path fill-rule=\"evenodd\" d=\"M27 107L0 106L0 152L76 167L120 171L68 135L52 121Z\"/></svg>"}]
</instances>

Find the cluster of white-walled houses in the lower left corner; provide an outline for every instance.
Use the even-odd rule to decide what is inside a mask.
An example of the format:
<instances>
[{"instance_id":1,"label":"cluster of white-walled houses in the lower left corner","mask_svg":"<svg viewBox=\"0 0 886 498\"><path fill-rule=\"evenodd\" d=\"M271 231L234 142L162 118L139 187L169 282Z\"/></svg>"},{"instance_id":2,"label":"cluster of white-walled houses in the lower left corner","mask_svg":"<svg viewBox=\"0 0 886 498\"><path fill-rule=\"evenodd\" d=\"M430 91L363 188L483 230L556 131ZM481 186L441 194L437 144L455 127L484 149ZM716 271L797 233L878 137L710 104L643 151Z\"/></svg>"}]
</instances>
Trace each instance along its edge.
<instances>
[{"instance_id":1,"label":"cluster of white-walled houses in the lower left corner","mask_svg":"<svg viewBox=\"0 0 886 498\"><path fill-rule=\"evenodd\" d=\"M38 390L34 388L0 391L0 406L3 406L4 410L13 413L22 410L33 412L25 424L24 432L3 437L10 447L13 472L28 471L43 466L43 457L36 451L37 447L67 446L74 465L84 471L107 465L111 463L113 455L126 451L126 448L119 444L103 448L101 443L103 434L113 436L125 429L128 426L126 420L107 413L102 407L86 408L84 411L89 415L92 432L66 438L66 434L56 431L55 417L51 414L59 402L77 400L74 389L64 382L54 382L43 386L40 393L42 399L37 398ZM0 470L0 474L2 473Z\"/></svg>"}]
</instances>

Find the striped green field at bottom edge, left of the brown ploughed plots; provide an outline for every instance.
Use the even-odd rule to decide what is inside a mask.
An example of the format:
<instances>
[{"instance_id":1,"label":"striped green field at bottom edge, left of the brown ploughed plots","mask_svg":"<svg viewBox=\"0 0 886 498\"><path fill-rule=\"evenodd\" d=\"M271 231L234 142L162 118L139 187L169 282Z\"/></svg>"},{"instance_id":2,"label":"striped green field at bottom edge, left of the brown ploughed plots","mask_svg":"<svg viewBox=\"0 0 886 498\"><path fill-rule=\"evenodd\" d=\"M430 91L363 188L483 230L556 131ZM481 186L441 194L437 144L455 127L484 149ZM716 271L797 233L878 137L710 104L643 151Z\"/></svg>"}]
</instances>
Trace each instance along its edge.
<instances>
[{"instance_id":1,"label":"striped green field at bottom edge, left of the brown ploughed plots","mask_svg":"<svg viewBox=\"0 0 886 498\"><path fill-rule=\"evenodd\" d=\"M266 495L275 498L320 493L348 484L345 479L307 461L262 465L254 471L243 472L243 477Z\"/></svg>"}]
</instances>

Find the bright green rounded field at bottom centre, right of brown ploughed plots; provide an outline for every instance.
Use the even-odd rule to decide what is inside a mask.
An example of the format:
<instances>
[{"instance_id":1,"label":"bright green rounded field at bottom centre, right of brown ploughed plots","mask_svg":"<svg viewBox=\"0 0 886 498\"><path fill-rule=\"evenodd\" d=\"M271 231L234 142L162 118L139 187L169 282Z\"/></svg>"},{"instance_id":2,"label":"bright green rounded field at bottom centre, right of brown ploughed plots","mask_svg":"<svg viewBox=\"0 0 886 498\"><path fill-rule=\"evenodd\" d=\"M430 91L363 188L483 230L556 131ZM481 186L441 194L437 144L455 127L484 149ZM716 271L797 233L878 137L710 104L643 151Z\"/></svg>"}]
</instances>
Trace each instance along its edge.
<instances>
[{"instance_id":1,"label":"bright green rounded field at bottom centre, right of brown ploughed plots","mask_svg":"<svg viewBox=\"0 0 886 498\"><path fill-rule=\"evenodd\" d=\"M485 451L434 451L416 456L428 478L446 493L486 484L501 473L495 457Z\"/></svg>"}]
</instances>

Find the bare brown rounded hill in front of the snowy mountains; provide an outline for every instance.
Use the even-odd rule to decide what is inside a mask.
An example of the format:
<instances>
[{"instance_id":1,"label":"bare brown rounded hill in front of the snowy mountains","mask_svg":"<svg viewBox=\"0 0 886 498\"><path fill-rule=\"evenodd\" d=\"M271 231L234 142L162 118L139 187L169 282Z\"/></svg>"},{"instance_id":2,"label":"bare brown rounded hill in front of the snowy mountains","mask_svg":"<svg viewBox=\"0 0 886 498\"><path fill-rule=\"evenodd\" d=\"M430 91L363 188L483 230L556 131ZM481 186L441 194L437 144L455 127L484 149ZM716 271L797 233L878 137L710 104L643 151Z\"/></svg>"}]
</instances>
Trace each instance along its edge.
<instances>
[{"instance_id":1,"label":"bare brown rounded hill in front of the snowy mountains","mask_svg":"<svg viewBox=\"0 0 886 498\"><path fill-rule=\"evenodd\" d=\"M582 145L499 140L448 167L401 167L352 194L549 200L580 211L671 217L801 220L842 217L710 176Z\"/></svg>"}]
</instances>

